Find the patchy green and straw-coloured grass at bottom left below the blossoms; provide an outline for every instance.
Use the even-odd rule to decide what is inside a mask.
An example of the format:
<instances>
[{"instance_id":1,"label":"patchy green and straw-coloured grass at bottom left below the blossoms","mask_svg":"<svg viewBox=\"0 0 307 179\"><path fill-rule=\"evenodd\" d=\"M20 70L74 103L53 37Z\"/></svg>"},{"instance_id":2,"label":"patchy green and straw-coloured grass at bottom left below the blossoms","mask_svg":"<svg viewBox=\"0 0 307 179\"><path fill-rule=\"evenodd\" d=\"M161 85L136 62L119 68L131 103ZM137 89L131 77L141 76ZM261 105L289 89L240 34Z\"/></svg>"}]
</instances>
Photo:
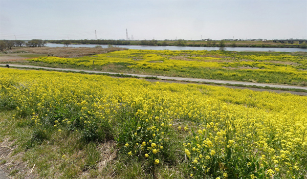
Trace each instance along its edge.
<instances>
[{"instance_id":1,"label":"patchy green and straw-coloured grass at bottom left below the blossoms","mask_svg":"<svg viewBox=\"0 0 307 179\"><path fill-rule=\"evenodd\" d=\"M39 178L185 178L186 173L182 172L187 172L187 169L182 164L176 164L182 158L176 151L170 151L175 162L173 165L162 164L155 169L156 174L148 174L151 172L148 171L148 162L131 161L125 154L118 154L115 160L107 161L109 154L116 152L115 148L106 148L110 145L87 143L77 131L59 133L51 126L45 126L49 132L44 136L28 120L13 119L16 112L0 112L0 138L15 141L10 147L16 147L14 154L2 160L0 165L14 161L23 165L27 163L28 167L23 171L13 168L9 172L10 176L23 178L24 172L30 172L35 164L33 173L38 174ZM172 137L174 143L177 140L175 136ZM17 157L20 152L23 155ZM102 164L103 167L99 166Z\"/></svg>"}]
</instances>

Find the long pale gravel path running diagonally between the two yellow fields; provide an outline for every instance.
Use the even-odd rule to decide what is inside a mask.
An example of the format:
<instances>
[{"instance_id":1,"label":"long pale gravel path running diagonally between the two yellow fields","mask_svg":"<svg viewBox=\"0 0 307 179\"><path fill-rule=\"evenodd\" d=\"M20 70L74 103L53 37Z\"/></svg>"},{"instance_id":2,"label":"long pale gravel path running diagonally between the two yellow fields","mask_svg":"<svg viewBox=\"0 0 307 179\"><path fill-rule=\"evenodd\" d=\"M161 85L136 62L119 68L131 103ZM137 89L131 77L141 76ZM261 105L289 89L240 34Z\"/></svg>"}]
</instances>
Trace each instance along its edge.
<instances>
[{"instance_id":1,"label":"long pale gravel path running diagonally between the two yellow fields","mask_svg":"<svg viewBox=\"0 0 307 179\"><path fill-rule=\"evenodd\" d=\"M0 66L5 66L6 64L0 64ZM112 74L118 75L121 73L114 72L100 72L100 71L89 71L89 70L75 70L75 69L60 69L60 68L49 68L42 66L31 66L31 65L20 65L20 64L10 64L12 67L16 68L33 68L33 69L46 69L46 70L55 70L55 71L72 71L72 72L85 72L85 73L97 73L97 74ZM278 87L278 88L291 88L291 89L305 89L307 87L303 86L291 86L291 85L279 85L279 84L266 84L266 83L251 83L251 82L243 82L243 81L225 81L225 80L210 80L210 79L199 79L199 78L182 78L182 77L167 77L167 76L157 76L157 75L139 75L139 74L127 74L123 75L131 75L137 77L157 77L162 80L179 80L179 81L193 81L193 82L210 82L210 83L221 83L221 84L242 84L242 85L255 85L255 86L268 86L268 87Z\"/></svg>"}]
</instances>

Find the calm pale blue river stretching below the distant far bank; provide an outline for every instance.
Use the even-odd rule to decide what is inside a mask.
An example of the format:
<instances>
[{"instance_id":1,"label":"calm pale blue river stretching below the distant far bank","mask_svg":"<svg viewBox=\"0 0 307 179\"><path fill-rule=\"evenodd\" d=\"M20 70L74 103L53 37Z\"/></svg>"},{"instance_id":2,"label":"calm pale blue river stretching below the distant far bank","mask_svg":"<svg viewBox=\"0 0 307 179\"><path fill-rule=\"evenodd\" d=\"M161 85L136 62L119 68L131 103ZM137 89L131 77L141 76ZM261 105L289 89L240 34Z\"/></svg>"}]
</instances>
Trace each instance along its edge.
<instances>
[{"instance_id":1,"label":"calm pale blue river stretching below the distant far bank","mask_svg":"<svg viewBox=\"0 0 307 179\"><path fill-rule=\"evenodd\" d=\"M90 47L93 48L97 44L71 44L69 47ZM107 48L108 45L99 45L102 48ZM63 44L47 43L47 47L64 47ZM117 46L128 49L138 50L219 50L219 47L179 47L179 46ZM226 51L259 51L259 52L307 52L307 49L299 48L257 48L257 47L227 47Z\"/></svg>"}]
</instances>

